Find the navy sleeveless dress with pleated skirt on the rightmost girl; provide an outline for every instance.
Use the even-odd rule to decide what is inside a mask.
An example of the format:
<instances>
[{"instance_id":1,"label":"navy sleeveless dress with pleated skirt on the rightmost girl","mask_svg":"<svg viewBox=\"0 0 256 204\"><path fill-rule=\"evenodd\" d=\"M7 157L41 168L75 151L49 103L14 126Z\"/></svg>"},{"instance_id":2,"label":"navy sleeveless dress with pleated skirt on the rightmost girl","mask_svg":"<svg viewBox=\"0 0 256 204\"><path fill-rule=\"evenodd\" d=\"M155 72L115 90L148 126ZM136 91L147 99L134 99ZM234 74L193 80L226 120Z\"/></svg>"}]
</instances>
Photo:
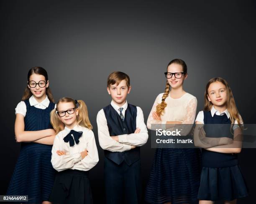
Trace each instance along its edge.
<instances>
[{"instance_id":1,"label":"navy sleeveless dress with pleated skirt on the rightmost girl","mask_svg":"<svg viewBox=\"0 0 256 204\"><path fill-rule=\"evenodd\" d=\"M205 124L231 124L226 114L214 115L210 111L204 111ZM205 128L205 132L210 129ZM231 133L230 133L231 135ZM202 174L198 199L201 200L227 200L248 195L246 184L243 180L238 165L237 154L225 154L202 149Z\"/></svg>"}]
</instances>

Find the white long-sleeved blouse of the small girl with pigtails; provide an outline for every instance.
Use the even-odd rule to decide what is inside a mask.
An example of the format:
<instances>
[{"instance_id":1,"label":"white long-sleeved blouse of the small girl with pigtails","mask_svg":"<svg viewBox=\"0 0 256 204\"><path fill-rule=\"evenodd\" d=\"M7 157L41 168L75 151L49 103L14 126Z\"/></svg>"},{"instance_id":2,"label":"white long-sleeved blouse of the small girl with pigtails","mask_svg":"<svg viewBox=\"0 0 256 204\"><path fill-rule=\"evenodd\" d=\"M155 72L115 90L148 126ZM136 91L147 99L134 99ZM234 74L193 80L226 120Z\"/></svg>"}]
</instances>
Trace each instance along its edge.
<instances>
[{"instance_id":1,"label":"white long-sleeved blouse of the small girl with pigtails","mask_svg":"<svg viewBox=\"0 0 256 204\"><path fill-rule=\"evenodd\" d=\"M51 150L51 164L57 171L66 169L77 169L80 171L88 171L94 167L98 161L98 151L95 143L94 134L88 128L75 126L74 131L82 131L83 134L79 138L79 143L74 143L74 146L69 146L69 142L64 142L63 138L71 131L65 127L60 131L54 139L54 144ZM74 137L73 137L74 138ZM87 149L88 155L82 159L81 152ZM66 155L59 156L56 151L64 151Z\"/></svg>"}]
</instances>

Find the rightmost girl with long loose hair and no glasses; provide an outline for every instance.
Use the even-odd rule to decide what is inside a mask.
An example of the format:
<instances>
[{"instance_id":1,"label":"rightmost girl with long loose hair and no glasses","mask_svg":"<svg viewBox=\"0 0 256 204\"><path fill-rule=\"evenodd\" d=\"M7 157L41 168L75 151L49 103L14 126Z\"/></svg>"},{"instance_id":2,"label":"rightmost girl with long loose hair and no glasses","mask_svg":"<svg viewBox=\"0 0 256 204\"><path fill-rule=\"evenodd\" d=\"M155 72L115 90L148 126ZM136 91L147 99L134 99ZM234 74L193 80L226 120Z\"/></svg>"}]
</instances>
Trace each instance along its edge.
<instances>
[{"instance_id":1,"label":"rightmost girl with long loose hair and no glasses","mask_svg":"<svg viewBox=\"0 0 256 204\"><path fill-rule=\"evenodd\" d=\"M243 120L225 79L217 77L208 81L205 88L204 111L198 113L195 121L196 124L227 124L227 127L231 128L231 132L228 130L227 133L230 136L233 134L231 144L202 149L199 203L213 204L213 201L224 200L225 204L236 204L237 198L247 196L246 184L237 158L242 147ZM214 127L211 126L212 128ZM207 136L209 128L204 129ZM220 133L223 131L224 129ZM228 137L226 134L225 136ZM202 145L198 143L197 146Z\"/></svg>"}]
</instances>

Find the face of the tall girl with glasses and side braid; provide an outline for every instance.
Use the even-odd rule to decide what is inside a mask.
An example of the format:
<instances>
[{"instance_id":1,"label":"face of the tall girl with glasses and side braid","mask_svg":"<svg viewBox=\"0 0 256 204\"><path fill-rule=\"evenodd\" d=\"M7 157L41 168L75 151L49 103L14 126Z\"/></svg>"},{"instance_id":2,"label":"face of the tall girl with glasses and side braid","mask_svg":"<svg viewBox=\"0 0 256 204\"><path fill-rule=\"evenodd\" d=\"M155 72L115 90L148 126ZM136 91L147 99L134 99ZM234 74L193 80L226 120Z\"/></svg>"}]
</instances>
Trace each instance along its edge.
<instances>
[{"instance_id":1,"label":"face of the tall girl with glasses and side braid","mask_svg":"<svg viewBox=\"0 0 256 204\"><path fill-rule=\"evenodd\" d=\"M177 63L172 63L168 66L167 72L170 72L170 73L183 72L182 65L179 65ZM172 78L167 78L167 81L172 88L179 88L183 85L183 82L186 78L187 78L187 74L182 74L181 78L175 78L173 74Z\"/></svg>"}]
</instances>

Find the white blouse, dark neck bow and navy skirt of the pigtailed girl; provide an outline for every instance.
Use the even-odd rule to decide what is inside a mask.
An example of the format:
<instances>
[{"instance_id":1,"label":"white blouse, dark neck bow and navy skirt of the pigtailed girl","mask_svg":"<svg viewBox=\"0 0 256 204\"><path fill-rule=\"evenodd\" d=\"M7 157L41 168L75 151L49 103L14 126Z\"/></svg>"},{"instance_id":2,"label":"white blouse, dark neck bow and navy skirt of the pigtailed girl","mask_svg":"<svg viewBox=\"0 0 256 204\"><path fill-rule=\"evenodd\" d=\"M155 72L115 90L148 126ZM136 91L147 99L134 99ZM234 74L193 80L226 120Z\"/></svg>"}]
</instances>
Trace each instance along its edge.
<instances>
[{"instance_id":1,"label":"white blouse, dark neck bow and navy skirt of the pigtailed girl","mask_svg":"<svg viewBox=\"0 0 256 204\"><path fill-rule=\"evenodd\" d=\"M88 155L82 159L81 152ZM64 151L59 156L56 151ZM75 126L60 131L52 148L51 164L58 171L51 192L53 204L92 204L89 170L99 161L94 134L88 128Z\"/></svg>"}]
</instances>

